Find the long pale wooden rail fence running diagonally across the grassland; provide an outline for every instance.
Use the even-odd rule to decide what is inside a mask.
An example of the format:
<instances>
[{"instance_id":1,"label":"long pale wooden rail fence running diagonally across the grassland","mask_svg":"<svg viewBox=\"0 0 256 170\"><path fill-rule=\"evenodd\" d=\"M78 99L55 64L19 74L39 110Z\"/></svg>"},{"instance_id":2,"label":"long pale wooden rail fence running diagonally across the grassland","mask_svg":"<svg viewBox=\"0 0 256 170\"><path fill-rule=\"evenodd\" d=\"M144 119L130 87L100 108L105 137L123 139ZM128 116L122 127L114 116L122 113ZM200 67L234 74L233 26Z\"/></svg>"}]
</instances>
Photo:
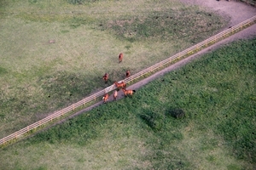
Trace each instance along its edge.
<instances>
[{"instance_id":1,"label":"long pale wooden rail fence running diagonally across the grassland","mask_svg":"<svg viewBox=\"0 0 256 170\"><path fill-rule=\"evenodd\" d=\"M225 37L229 37L230 35L236 33L237 31L241 31L242 29L246 28L247 26L251 26L255 23L256 21L256 15L253 16L252 18L245 20L243 22L241 22L240 24L236 25L236 26L232 26L229 29L222 31L220 33L218 33L217 35L208 38L207 40L197 43L196 45L194 45L191 48L188 48L178 54L173 55L172 57L165 59L163 61L161 61L160 63L157 63L155 65L152 65L150 67L148 67L147 69L138 72L135 75L132 75L131 77L125 78L124 81L125 83L128 82L132 82L138 78L143 77L146 74L150 74L153 71L156 71L158 69L161 69L162 67L166 66L166 65L170 65L171 62L173 62L175 59L181 59L181 58L185 58L191 54L195 54L196 52L198 52L199 50L206 48L210 45L212 45L215 42L218 42L222 39L224 39ZM119 82L122 82L119 81ZM24 127L22 129L20 129L19 131L10 134L9 136L0 139L0 145L2 144L7 144L9 141L15 140L15 139L19 139L20 137L22 137L23 135L25 135L26 133L29 133L31 130L40 127L48 122L51 122L52 120L54 120L55 118L59 118L65 114L67 114L68 112L74 111L75 109L79 108L82 105L88 104L90 101L95 100L99 97L102 98L102 96L106 93L109 93L111 91L113 91L116 87L114 85L109 86L108 88L103 89L102 91L97 92L96 94L92 94L89 97L86 97L82 100L80 100L79 102L68 106L67 108L62 109L61 111L56 111L54 114L45 117L44 119L33 123L32 125L29 125L27 127Z\"/></svg>"}]
</instances>

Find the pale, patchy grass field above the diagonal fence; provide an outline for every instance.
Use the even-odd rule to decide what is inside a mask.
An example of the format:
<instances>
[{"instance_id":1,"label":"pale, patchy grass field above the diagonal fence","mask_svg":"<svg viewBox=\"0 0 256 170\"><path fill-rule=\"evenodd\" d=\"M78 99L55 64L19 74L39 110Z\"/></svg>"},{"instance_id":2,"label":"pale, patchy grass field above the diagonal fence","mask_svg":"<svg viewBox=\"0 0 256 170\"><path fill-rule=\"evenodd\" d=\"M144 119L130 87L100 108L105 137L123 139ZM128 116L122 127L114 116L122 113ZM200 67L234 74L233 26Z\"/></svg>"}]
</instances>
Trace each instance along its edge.
<instances>
[{"instance_id":1,"label":"pale, patchy grass field above the diagonal fence","mask_svg":"<svg viewBox=\"0 0 256 170\"><path fill-rule=\"evenodd\" d=\"M0 1L0 138L123 79L127 69L134 74L201 42L226 23L176 0ZM125 58L118 64L120 52Z\"/></svg>"}]
</instances>

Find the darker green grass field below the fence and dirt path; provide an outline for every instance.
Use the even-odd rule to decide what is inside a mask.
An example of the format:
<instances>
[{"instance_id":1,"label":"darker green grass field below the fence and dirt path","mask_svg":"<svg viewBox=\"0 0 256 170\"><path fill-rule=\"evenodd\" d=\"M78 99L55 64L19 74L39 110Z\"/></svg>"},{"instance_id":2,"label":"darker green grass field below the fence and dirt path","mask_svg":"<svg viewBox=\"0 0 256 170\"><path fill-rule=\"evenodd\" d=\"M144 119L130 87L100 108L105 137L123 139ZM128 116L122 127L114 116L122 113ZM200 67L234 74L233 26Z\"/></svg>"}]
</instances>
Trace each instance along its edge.
<instances>
[{"instance_id":1,"label":"darker green grass field below the fence and dirt path","mask_svg":"<svg viewBox=\"0 0 256 170\"><path fill-rule=\"evenodd\" d=\"M253 169L255 48L255 38L219 48L132 97L1 149L1 164L6 169Z\"/></svg>"}]
</instances>

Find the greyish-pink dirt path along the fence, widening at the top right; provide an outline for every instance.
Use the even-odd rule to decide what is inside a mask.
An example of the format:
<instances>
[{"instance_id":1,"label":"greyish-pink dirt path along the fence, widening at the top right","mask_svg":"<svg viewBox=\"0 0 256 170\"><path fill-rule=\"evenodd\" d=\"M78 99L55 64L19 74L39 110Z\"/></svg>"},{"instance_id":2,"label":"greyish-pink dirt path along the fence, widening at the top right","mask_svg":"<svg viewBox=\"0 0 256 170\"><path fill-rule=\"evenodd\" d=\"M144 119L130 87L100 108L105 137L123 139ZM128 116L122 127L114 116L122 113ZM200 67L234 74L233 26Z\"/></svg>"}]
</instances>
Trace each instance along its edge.
<instances>
[{"instance_id":1,"label":"greyish-pink dirt path along the fence, widening at the top right","mask_svg":"<svg viewBox=\"0 0 256 170\"><path fill-rule=\"evenodd\" d=\"M187 3L189 5L201 5L206 8L209 8L210 10L212 10L218 14L221 14L222 16L224 16L225 19L230 20L230 24L224 29L227 29L230 26L235 26L236 24L239 24L240 22L247 20L247 19L253 17L254 15L256 15L256 8L254 8L250 5L247 5L246 3L241 3L241 2L236 2L236 1L230 1L230 2L225 1L225 0L222 0L222 1L180 0L180 1L183 3ZM229 42L233 42L233 41L236 41L239 39L251 38L251 37L256 37L256 24L248 27L247 29L245 29L243 31L236 33L235 35L233 35L231 37L224 39L223 41L217 42L217 43L213 44L212 46L201 50L197 54L191 55L188 58L183 59L183 60L177 62L176 64L167 67L166 69L164 69L162 71L158 71L154 75L147 77L147 78L143 79L142 81L137 82L127 88L137 90L138 88L141 88L144 85L146 85L148 82L154 81L155 78L161 77L164 74L166 74L167 72L173 71L173 70L187 64L189 61L196 59L198 57L201 57L202 54L206 54L207 52L212 51L213 49L219 48ZM108 102L113 102L113 96L112 96L112 94L110 94L110 95L111 96L110 96L110 99ZM123 94L123 92L119 91L118 99L122 99L122 98L124 98L124 94ZM102 104L103 104L103 102L98 102L95 105L91 105L90 107L85 108L84 110L79 111L79 112L73 114L72 116L69 116L68 118L77 116L81 113L84 113L85 111L90 111L91 109L95 108L96 106L102 105ZM63 121L65 121L65 120L63 120ZM63 121L61 121L61 122L63 122Z\"/></svg>"}]
</instances>

